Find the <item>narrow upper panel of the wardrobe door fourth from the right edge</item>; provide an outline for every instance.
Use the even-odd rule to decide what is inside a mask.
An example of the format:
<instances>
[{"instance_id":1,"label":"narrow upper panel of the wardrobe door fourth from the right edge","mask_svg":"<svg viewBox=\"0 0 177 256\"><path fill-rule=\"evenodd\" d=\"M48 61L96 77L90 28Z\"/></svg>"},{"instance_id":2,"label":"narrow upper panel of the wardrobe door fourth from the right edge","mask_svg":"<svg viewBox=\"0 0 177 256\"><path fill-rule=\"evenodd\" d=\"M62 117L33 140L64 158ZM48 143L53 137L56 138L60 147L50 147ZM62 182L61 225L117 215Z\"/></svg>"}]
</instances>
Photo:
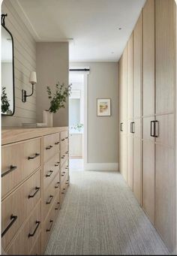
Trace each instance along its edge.
<instances>
[{"instance_id":1,"label":"narrow upper panel of the wardrobe door fourth from the right edge","mask_svg":"<svg viewBox=\"0 0 177 256\"><path fill-rule=\"evenodd\" d=\"M133 119L133 34L127 43L127 119Z\"/></svg>"}]
</instances>

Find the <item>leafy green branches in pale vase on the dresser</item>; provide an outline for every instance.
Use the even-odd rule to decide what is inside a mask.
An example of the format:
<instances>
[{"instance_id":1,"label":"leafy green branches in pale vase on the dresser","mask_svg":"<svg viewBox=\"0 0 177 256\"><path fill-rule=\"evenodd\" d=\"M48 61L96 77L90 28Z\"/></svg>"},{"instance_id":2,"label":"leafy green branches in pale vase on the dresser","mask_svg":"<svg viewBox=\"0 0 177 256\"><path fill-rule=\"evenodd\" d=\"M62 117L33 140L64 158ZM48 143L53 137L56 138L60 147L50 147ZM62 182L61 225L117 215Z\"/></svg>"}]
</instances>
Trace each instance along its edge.
<instances>
[{"instance_id":1,"label":"leafy green branches in pale vase on the dresser","mask_svg":"<svg viewBox=\"0 0 177 256\"><path fill-rule=\"evenodd\" d=\"M71 93L71 84L65 86L64 83L59 82L55 84L55 92L52 92L49 86L46 86L46 92L49 98L49 109L43 111L43 122L48 127L52 127L52 114L59 109L65 108L67 98Z\"/></svg>"}]
</instances>

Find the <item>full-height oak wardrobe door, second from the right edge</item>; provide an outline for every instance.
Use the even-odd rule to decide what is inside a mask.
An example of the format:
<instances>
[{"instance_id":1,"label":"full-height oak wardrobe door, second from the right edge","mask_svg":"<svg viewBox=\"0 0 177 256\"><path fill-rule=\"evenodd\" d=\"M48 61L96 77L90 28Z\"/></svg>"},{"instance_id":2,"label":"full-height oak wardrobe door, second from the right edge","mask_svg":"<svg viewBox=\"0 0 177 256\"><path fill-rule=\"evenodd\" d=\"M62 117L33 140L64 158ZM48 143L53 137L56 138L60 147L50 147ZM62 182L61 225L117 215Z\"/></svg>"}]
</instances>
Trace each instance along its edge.
<instances>
[{"instance_id":1,"label":"full-height oak wardrobe door, second from the right edge","mask_svg":"<svg viewBox=\"0 0 177 256\"><path fill-rule=\"evenodd\" d=\"M142 140L142 208L154 224L154 0L142 10L143 37L143 140Z\"/></svg>"}]
</instances>

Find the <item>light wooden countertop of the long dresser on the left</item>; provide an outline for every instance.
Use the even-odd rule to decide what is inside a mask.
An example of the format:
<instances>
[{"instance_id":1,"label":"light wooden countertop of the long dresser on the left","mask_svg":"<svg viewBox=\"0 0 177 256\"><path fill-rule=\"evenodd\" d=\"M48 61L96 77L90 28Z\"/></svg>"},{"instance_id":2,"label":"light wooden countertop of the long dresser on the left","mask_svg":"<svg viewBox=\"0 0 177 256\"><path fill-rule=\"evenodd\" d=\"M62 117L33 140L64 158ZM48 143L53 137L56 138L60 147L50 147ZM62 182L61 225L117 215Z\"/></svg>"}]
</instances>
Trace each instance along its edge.
<instances>
[{"instance_id":1,"label":"light wooden countertop of the long dresser on the left","mask_svg":"<svg viewBox=\"0 0 177 256\"><path fill-rule=\"evenodd\" d=\"M1 145L28 140L48 134L55 134L60 131L68 131L68 127L51 128L2 128Z\"/></svg>"}]
</instances>

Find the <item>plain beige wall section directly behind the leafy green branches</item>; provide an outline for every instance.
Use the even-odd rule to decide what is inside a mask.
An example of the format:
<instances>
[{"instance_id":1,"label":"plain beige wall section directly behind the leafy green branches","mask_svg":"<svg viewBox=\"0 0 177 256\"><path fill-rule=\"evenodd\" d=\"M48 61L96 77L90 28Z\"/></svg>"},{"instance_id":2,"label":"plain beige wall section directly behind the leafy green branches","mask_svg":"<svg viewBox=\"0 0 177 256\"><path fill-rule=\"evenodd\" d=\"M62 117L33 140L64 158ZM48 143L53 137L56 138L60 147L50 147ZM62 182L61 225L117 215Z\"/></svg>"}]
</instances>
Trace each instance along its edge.
<instances>
[{"instance_id":1,"label":"plain beige wall section directly behind the leafy green branches","mask_svg":"<svg viewBox=\"0 0 177 256\"><path fill-rule=\"evenodd\" d=\"M46 86L57 82L68 85L68 43L37 43L37 122L49 109ZM53 115L53 126L68 125L68 103Z\"/></svg>"}]
</instances>

